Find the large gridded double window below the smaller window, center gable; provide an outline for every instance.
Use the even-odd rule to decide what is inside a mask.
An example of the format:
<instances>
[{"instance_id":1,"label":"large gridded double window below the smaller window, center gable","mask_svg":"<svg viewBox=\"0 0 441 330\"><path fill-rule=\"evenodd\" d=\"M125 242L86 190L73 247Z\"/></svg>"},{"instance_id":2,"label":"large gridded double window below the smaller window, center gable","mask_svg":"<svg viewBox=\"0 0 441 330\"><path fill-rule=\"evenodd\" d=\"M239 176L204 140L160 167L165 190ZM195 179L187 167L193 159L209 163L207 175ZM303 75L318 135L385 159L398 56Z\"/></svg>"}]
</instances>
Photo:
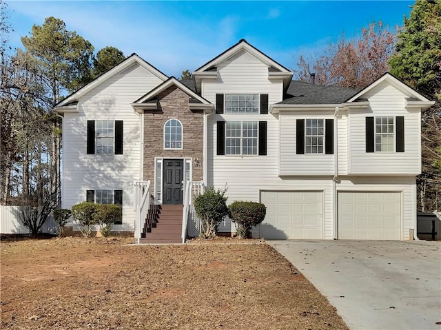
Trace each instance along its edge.
<instances>
[{"instance_id":1,"label":"large gridded double window below the smaller window, center gable","mask_svg":"<svg viewBox=\"0 0 441 330\"><path fill-rule=\"evenodd\" d=\"M225 154L257 155L258 122L227 121L225 132Z\"/></svg>"}]
</instances>

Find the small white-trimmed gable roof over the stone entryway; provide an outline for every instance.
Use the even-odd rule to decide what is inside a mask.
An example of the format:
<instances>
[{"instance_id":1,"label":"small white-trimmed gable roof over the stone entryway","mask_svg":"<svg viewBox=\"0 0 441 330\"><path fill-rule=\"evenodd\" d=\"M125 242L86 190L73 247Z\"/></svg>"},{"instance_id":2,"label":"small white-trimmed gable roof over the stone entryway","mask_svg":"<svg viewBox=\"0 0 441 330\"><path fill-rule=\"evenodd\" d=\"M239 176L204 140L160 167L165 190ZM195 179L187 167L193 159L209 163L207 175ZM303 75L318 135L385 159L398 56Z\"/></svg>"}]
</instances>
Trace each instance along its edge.
<instances>
[{"instance_id":1,"label":"small white-trimmed gable roof over the stone entryway","mask_svg":"<svg viewBox=\"0 0 441 330\"><path fill-rule=\"evenodd\" d=\"M141 96L139 99L131 103L132 107L136 112L142 112L143 110L154 110L157 107L157 96L164 90L171 86L176 86L189 96L190 109L214 109L214 104L204 99L202 96L198 95L194 90L190 89L184 85L181 81L178 81L174 76L161 83L160 85L154 87L153 90L147 92L147 94Z\"/></svg>"}]
</instances>

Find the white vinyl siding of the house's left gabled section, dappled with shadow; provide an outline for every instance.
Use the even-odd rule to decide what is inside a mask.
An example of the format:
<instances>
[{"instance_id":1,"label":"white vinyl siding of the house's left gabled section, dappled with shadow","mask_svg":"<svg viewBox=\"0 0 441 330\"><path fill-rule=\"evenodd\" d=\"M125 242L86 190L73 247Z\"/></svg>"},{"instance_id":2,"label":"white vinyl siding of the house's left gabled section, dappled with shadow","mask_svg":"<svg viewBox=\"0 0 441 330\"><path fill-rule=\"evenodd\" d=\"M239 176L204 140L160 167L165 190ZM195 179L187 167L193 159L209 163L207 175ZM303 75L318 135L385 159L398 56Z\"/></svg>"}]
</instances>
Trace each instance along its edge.
<instances>
[{"instance_id":1,"label":"white vinyl siding of the house's left gabled section, dappled with shadow","mask_svg":"<svg viewBox=\"0 0 441 330\"><path fill-rule=\"evenodd\" d=\"M134 64L82 96L78 114L65 114L63 208L84 201L87 189L123 190L123 225L114 230L133 230L133 180L141 178L141 119L130 103L160 83L157 76ZM124 154L86 154L88 120L124 121Z\"/></svg>"}]
</instances>

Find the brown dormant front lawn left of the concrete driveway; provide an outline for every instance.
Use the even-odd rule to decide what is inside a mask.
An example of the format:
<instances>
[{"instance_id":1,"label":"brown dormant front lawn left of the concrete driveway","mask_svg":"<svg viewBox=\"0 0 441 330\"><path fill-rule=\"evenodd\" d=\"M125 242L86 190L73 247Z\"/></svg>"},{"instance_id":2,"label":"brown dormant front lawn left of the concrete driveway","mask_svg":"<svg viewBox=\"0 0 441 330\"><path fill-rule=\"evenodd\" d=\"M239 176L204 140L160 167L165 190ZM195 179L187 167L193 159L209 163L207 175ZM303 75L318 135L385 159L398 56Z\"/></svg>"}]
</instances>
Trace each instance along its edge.
<instances>
[{"instance_id":1,"label":"brown dormant front lawn left of the concrete driveway","mask_svg":"<svg viewBox=\"0 0 441 330\"><path fill-rule=\"evenodd\" d=\"M2 329L348 329L265 244L3 240Z\"/></svg>"}]
</instances>

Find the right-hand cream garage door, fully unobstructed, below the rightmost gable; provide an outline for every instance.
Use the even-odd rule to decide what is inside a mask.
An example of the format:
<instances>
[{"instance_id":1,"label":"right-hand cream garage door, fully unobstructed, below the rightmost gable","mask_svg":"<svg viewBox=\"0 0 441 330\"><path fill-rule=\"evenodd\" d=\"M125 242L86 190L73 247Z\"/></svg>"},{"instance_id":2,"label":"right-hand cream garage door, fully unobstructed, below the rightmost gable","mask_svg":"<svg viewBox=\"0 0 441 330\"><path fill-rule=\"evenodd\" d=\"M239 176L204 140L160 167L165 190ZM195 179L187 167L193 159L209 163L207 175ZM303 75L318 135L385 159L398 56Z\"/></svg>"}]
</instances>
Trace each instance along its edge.
<instances>
[{"instance_id":1,"label":"right-hand cream garage door, fully unobstructed, below the rightmost gable","mask_svg":"<svg viewBox=\"0 0 441 330\"><path fill-rule=\"evenodd\" d=\"M338 238L400 240L400 192L338 192Z\"/></svg>"}]
</instances>

